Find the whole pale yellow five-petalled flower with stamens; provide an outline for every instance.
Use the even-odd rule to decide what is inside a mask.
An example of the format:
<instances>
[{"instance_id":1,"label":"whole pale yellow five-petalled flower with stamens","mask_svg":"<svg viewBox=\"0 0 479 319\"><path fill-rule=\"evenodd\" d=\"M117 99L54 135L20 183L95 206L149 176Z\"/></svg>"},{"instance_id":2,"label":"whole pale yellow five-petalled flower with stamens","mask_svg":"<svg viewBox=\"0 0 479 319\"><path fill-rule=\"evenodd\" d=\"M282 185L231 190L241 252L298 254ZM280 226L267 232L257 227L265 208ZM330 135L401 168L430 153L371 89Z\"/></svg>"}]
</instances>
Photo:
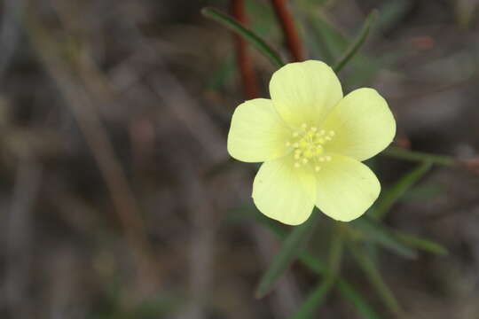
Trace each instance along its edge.
<instances>
[{"instance_id":1,"label":"whole pale yellow five-petalled flower with stamens","mask_svg":"<svg viewBox=\"0 0 479 319\"><path fill-rule=\"evenodd\" d=\"M313 60L281 67L270 94L238 106L228 134L234 159L264 162L253 183L255 206L290 225L306 221L314 206L342 222L364 214L381 185L361 161L396 134L384 98L366 88L342 97L331 67Z\"/></svg>"}]
</instances>

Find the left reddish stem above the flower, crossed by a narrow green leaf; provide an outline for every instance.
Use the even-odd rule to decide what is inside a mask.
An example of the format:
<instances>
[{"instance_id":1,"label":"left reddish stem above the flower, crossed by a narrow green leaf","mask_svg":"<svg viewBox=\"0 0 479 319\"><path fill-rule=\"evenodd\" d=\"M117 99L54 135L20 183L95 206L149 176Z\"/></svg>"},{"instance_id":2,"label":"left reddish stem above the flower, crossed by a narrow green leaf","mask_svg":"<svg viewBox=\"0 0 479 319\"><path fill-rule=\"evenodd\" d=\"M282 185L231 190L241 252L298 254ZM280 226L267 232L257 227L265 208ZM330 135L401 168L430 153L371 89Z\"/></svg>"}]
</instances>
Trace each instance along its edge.
<instances>
[{"instance_id":1,"label":"left reddish stem above the flower, crossed by a narrow green leaf","mask_svg":"<svg viewBox=\"0 0 479 319\"><path fill-rule=\"evenodd\" d=\"M247 16L243 0L232 0L232 16L242 25L246 26ZM239 35L234 35L236 39L236 60L240 68L241 82L247 98L258 97L256 85L255 70L251 58L247 51L247 42Z\"/></svg>"}]
</instances>

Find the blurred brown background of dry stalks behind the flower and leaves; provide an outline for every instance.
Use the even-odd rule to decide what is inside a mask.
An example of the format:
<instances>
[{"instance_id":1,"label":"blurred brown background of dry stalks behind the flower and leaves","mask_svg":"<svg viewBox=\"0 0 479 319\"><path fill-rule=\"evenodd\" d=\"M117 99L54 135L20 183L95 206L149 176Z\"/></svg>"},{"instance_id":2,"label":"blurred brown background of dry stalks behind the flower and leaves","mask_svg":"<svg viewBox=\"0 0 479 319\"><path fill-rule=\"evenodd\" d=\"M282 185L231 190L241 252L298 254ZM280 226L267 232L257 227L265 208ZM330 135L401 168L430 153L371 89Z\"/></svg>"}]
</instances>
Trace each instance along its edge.
<instances>
[{"instance_id":1,"label":"blurred brown background of dry stalks behind the flower and leaves","mask_svg":"<svg viewBox=\"0 0 479 319\"><path fill-rule=\"evenodd\" d=\"M0 3L0 317L293 315L318 281L300 264L254 297L280 242L256 222L255 166L228 161L226 135L236 105L269 97L275 67L249 50L256 80L253 92L244 88L237 39L200 14L206 5L231 12L232 3ZM290 59L271 1L244 5L249 27ZM377 8L365 47L339 74L343 89L386 97L397 145L475 158L478 1L296 0L288 8L305 57L329 64ZM387 189L415 164L379 157L373 166ZM478 191L474 172L438 166L392 206L389 227L450 252L378 256L404 318L479 317ZM330 225L320 222L319 255ZM393 317L354 263L342 273L381 317ZM334 291L318 315L363 317Z\"/></svg>"}]
</instances>

